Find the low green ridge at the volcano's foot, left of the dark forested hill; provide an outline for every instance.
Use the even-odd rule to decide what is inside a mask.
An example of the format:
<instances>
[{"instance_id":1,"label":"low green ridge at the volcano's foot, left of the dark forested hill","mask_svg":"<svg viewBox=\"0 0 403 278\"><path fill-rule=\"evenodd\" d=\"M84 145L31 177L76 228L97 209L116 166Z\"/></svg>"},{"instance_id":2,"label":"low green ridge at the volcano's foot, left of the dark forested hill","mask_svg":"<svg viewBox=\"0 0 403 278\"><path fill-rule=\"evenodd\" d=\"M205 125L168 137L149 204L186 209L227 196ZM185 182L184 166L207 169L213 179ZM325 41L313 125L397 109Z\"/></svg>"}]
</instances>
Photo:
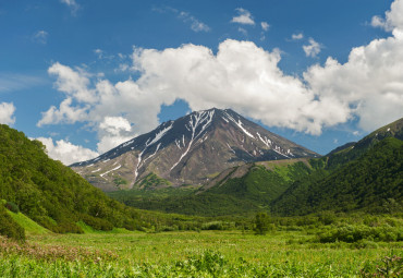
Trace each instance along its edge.
<instances>
[{"instance_id":1,"label":"low green ridge at the volcano's foot, left of the dark forested hill","mask_svg":"<svg viewBox=\"0 0 403 278\"><path fill-rule=\"evenodd\" d=\"M143 209L199 216L251 214L270 208L296 179L315 169L308 159L283 159L241 165L224 170L198 190L172 189L112 192L110 196ZM161 192L158 194L158 192Z\"/></svg>"}]
</instances>

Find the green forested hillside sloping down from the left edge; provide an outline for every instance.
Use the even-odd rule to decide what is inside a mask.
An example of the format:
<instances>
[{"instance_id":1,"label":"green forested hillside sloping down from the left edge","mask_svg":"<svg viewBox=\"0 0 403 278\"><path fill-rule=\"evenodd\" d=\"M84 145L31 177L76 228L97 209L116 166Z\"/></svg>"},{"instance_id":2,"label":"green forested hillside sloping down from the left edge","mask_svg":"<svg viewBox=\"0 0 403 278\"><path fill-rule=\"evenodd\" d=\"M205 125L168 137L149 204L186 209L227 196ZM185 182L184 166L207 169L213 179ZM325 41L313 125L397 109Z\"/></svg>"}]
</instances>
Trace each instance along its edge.
<instances>
[{"instance_id":1,"label":"green forested hillside sloping down from the left edge","mask_svg":"<svg viewBox=\"0 0 403 278\"><path fill-rule=\"evenodd\" d=\"M54 232L81 232L80 220L97 229L141 225L137 210L110 200L45 152L40 142L0 124L0 200Z\"/></svg>"}]
</instances>

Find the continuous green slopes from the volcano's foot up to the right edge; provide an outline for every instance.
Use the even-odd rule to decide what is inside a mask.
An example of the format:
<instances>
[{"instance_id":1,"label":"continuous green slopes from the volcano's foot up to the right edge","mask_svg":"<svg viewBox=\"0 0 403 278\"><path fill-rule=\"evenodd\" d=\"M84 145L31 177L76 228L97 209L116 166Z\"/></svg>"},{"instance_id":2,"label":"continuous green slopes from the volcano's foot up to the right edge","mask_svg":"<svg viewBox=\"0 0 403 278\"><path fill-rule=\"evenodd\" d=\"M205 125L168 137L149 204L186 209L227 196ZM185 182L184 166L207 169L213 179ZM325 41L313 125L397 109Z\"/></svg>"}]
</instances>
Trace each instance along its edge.
<instances>
[{"instance_id":1,"label":"continuous green slopes from the volcano's foot up to the right edge","mask_svg":"<svg viewBox=\"0 0 403 278\"><path fill-rule=\"evenodd\" d=\"M136 197L126 204L199 215L277 215L321 210L403 210L402 119L321 158L244 164L215 174L187 195ZM237 205L236 205L237 204Z\"/></svg>"}]
</instances>

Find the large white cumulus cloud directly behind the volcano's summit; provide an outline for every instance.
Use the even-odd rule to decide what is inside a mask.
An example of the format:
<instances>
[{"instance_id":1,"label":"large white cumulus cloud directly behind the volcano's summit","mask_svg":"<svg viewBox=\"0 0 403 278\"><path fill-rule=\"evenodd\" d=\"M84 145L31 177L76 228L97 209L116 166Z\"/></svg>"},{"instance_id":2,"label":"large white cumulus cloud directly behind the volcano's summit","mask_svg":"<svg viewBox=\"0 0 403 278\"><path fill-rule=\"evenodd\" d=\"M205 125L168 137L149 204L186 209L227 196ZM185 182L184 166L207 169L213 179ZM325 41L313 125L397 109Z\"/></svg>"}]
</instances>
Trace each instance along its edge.
<instances>
[{"instance_id":1,"label":"large white cumulus cloud directly behind the volcano's summit","mask_svg":"<svg viewBox=\"0 0 403 278\"><path fill-rule=\"evenodd\" d=\"M133 124L133 133L143 133L158 124L160 107L176 99L185 100L192 110L233 108L268 125L288 126L313 134L320 133L322 125L340 121L339 117L334 117L337 112L329 112L323 105L338 107L330 99L317 100L301 80L285 75L278 68L280 59L279 50L270 52L254 43L232 39L221 43L217 55L207 47L192 44L162 51L135 49L133 69L141 73L137 81L112 84L103 80L91 89L71 89L69 84L73 78L63 74L76 76L78 72L73 74L72 69L65 70L58 64L57 68L64 70L59 71L56 84L59 90L66 94L66 99L80 95L76 92L93 90L97 99L93 102L91 98L81 97L78 101L76 97L81 106L73 106L73 111L89 106L86 117L62 113L62 107L54 108L51 113L62 114L65 121L80 119L94 123L98 126L101 141L117 136L114 131L107 129L107 122L100 124L106 117L123 116L119 118L120 122L125 119ZM125 126L122 131L132 132L127 124L122 126Z\"/></svg>"}]
</instances>

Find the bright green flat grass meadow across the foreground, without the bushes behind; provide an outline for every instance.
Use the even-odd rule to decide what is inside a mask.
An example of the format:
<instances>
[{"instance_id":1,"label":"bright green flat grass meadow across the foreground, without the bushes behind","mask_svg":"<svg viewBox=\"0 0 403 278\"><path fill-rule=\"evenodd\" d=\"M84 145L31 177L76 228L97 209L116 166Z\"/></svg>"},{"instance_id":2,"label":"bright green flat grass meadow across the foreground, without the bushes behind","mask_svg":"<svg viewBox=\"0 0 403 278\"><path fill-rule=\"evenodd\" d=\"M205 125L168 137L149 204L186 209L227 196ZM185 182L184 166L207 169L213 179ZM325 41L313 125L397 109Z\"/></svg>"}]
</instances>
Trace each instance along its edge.
<instances>
[{"instance_id":1,"label":"bright green flat grass meadow across the foreground, without the bushes behind","mask_svg":"<svg viewBox=\"0 0 403 278\"><path fill-rule=\"evenodd\" d=\"M24 247L2 238L0 277L399 277L402 242L314 238L305 231L113 230L28 235Z\"/></svg>"}]
</instances>

